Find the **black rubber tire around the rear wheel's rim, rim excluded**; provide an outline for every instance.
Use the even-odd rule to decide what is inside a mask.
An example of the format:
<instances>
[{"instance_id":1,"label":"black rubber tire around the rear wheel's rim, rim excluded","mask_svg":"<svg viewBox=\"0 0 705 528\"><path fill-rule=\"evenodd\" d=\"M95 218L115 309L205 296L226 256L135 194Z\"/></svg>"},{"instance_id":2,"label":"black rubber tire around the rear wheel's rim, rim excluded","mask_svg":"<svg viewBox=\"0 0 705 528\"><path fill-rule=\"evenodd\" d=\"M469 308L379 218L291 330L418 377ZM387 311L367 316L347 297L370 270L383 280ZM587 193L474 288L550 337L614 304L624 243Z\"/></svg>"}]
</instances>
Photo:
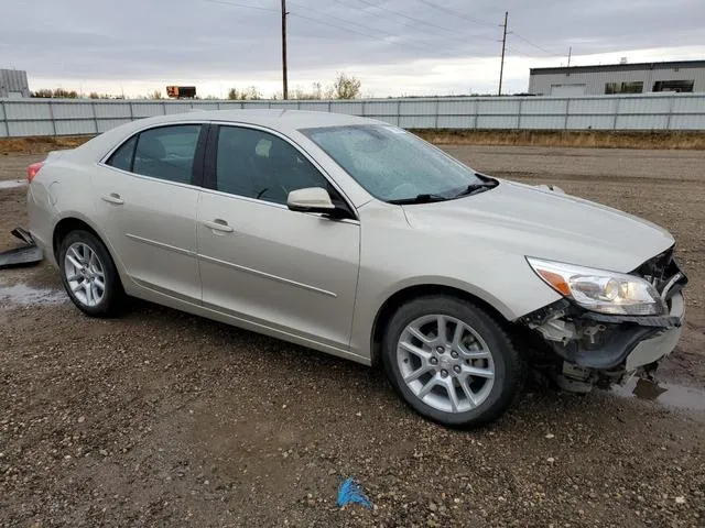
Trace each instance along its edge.
<instances>
[{"instance_id":1,"label":"black rubber tire around the rear wheel's rim, rim excluded","mask_svg":"<svg viewBox=\"0 0 705 528\"><path fill-rule=\"evenodd\" d=\"M87 306L84 304L68 285L65 267L66 253L76 242L86 244L90 250L93 250L102 266L105 290L102 298L95 306ZM98 318L113 317L120 314L124 302L124 290L122 289L122 283L120 282L120 275L115 267L115 262L112 262L112 257L110 256L110 253L108 253L107 248L95 234L88 231L76 230L64 237L58 250L58 267L64 289L80 311L87 316Z\"/></svg>"}]
</instances>

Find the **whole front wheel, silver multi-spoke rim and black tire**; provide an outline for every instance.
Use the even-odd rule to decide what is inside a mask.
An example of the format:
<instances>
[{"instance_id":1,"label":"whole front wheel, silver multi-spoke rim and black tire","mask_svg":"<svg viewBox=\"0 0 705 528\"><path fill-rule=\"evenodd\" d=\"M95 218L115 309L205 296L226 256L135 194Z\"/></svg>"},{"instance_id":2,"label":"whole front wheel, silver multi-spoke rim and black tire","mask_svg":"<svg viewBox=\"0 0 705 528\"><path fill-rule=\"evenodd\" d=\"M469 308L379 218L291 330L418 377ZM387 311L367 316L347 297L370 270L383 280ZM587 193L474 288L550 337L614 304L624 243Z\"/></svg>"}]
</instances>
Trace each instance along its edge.
<instances>
[{"instance_id":1,"label":"whole front wheel, silver multi-spoke rim and black tire","mask_svg":"<svg viewBox=\"0 0 705 528\"><path fill-rule=\"evenodd\" d=\"M445 340L438 339L441 328ZM409 406L455 428L496 420L523 384L524 362L497 320L449 296L402 305L384 330L382 363Z\"/></svg>"}]
</instances>

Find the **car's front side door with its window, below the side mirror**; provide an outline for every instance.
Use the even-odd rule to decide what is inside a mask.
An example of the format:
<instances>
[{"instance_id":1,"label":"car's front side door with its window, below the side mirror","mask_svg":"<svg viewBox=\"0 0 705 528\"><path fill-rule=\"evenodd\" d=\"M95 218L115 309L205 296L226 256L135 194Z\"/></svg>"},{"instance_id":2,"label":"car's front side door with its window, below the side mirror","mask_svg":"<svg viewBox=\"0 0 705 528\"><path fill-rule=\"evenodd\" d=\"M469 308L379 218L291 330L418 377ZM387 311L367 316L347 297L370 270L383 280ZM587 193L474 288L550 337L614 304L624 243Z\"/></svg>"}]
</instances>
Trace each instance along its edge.
<instances>
[{"instance_id":1,"label":"car's front side door with its window, below the side mirror","mask_svg":"<svg viewBox=\"0 0 705 528\"><path fill-rule=\"evenodd\" d=\"M214 125L198 201L205 307L280 336L347 350L360 227L314 164L283 136ZM347 219L295 212L291 190L324 187ZM271 333L271 332L270 332Z\"/></svg>"}]
</instances>

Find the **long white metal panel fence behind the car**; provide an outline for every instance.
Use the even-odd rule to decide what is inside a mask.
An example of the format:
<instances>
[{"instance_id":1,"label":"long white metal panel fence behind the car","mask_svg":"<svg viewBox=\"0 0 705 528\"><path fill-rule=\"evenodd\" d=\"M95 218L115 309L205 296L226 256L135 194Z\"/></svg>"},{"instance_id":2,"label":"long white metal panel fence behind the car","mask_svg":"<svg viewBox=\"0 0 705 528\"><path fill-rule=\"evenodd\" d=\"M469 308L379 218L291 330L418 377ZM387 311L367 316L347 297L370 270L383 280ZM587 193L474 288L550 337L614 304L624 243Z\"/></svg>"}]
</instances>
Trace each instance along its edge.
<instances>
[{"instance_id":1,"label":"long white metal panel fence behind the car","mask_svg":"<svg viewBox=\"0 0 705 528\"><path fill-rule=\"evenodd\" d=\"M404 129L705 130L705 94L351 101L0 99L0 138L97 134L152 116L239 108L366 116Z\"/></svg>"}]
</instances>

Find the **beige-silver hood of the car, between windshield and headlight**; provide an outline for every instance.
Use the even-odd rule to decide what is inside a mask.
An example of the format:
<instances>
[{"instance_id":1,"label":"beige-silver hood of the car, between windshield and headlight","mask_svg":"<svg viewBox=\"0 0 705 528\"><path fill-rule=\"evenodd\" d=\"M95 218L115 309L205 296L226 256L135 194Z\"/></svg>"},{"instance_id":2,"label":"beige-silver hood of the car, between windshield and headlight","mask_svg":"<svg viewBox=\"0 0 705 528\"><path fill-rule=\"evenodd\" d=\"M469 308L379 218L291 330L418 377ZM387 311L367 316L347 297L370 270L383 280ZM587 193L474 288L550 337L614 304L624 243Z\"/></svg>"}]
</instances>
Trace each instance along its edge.
<instances>
[{"instance_id":1,"label":"beige-silver hood of the car, between windshield and headlight","mask_svg":"<svg viewBox=\"0 0 705 528\"><path fill-rule=\"evenodd\" d=\"M470 251L630 272L673 245L660 227L582 198L507 180L478 195L404 206L410 226Z\"/></svg>"}]
</instances>

